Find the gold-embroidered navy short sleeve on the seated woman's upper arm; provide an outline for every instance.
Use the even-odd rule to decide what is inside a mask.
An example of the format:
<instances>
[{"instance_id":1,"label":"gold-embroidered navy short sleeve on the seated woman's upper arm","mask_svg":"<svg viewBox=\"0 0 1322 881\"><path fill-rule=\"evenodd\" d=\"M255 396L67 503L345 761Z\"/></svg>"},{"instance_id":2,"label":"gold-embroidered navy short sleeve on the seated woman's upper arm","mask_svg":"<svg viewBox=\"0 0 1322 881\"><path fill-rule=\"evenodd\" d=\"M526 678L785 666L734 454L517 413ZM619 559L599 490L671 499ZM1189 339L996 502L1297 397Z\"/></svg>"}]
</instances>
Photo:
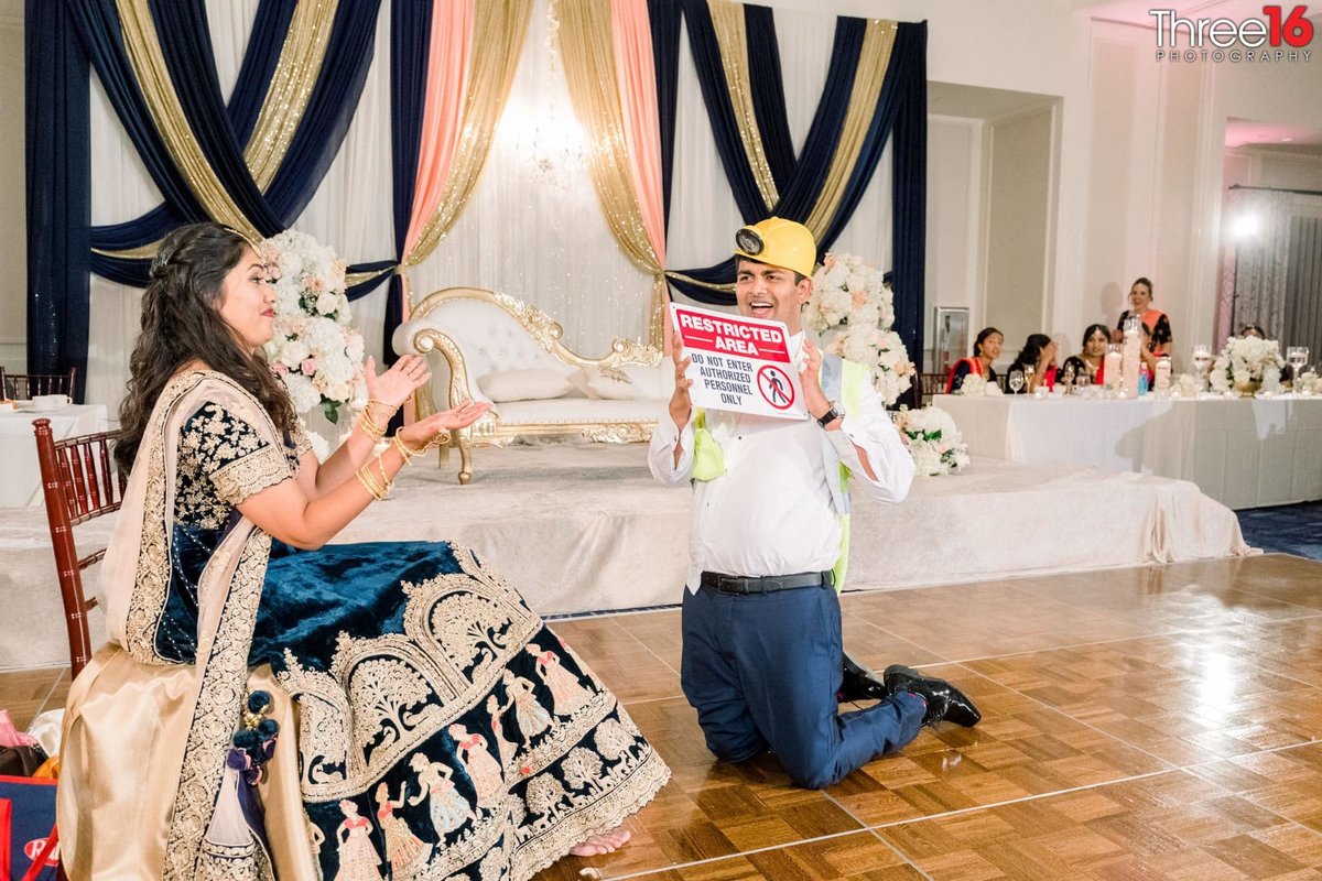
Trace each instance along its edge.
<instances>
[{"instance_id":1,"label":"gold-embroidered navy short sleeve on the seated woman's upper arm","mask_svg":"<svg viewBox=\"0 0 1322 881\"><path fill-rule=\"evenodd\" d=\"M293 477L279 448L242 417L214 403L202 404L184 424L180 462L185 460L192 462L189 470L210 478L219 499L231 506Z\"/></svg>"}]
</instances>

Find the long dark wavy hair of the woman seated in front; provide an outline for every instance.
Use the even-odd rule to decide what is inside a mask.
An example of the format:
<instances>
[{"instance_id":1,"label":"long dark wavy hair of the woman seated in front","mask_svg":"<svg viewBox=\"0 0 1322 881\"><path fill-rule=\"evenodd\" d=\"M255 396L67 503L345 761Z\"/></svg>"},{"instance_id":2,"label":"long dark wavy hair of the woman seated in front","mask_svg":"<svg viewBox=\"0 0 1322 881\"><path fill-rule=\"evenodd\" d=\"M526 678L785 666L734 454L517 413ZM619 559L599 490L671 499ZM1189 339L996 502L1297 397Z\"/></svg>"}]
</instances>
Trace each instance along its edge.
<instances>
[{"instance_id":1,"label":"long dark wavy hair of the woman seated in front","mask_svg":"<svg viewBox=\"0 0 1322 881\"><path fill-rule=\"evenodd\" d=\"M221 284L251 247L218 223L192 223L161 242L143 295L143 326L130 358L128 390L119 405L124 435L115 446L128 472L165 383L190 361L225 374L260 402L276 428L296 425L284 386L260 350L249 353L221 318Z\"/></svg>"}]
</instances>

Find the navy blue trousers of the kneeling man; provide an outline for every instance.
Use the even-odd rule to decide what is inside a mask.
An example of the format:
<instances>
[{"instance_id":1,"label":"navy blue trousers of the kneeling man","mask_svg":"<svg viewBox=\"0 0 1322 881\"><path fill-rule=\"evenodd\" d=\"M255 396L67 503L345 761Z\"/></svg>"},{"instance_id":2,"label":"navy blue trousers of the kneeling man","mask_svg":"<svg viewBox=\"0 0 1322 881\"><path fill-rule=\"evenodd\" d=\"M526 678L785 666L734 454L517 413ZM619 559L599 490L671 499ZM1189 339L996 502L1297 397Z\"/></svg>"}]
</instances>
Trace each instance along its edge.
<instances>
[{"instance_id":1,"label":"navy blue trousers of the kneeling man","mask_svg":"<svg viewBox=\"0 0 1322 881\"><path fill-rule=\"evenodd\" d=\"M765 748L798 786L821 789L917 737L925 705L902 693L841 715L839 598L834 588L683 593L680 679L717 758Z\"/></svg>"}]
</instances>

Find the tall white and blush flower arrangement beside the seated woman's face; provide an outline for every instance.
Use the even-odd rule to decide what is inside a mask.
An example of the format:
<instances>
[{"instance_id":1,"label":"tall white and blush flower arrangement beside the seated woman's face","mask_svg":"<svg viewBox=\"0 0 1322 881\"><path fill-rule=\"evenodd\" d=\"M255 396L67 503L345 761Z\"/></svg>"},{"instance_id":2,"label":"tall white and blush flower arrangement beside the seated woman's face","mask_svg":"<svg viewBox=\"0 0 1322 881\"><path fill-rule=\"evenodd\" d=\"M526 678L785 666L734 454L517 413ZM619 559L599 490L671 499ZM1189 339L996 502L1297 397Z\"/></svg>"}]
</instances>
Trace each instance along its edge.
<instances>
[{"instance_id":1,"label":"tall white and blush flower arrangement beside the seated woman's face","mask_svg":"<svg viewBox=\"0 0 1322 881\"><path fill-rule=\"evenodd\" d=\"M337 423L341 407L366 398L362 334L349 313L345 263L297 230L266 239L259 252L275 287L275 335L266 345L267 359L296 412L320 405Z\"/></svg>"}]
</instances>

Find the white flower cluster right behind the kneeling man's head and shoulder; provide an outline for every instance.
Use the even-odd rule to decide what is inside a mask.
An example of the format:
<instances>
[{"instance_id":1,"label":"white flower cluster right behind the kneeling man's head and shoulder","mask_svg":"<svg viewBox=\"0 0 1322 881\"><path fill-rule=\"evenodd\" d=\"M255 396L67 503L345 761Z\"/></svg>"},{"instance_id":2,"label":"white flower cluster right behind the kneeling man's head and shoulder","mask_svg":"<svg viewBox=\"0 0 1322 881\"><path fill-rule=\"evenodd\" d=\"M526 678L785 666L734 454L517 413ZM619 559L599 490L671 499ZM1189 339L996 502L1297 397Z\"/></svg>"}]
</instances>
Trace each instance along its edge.
<instances>
[{"instance_id":1,"label":"white flower cluster right behind the kneeling man's head and shoulder","mask_svg":"<svg viewBox=\"0 0 1322 881\"><path fill-rule=\"evenodd\" d=\"M837 330L825 350L873 369L873 386L887 404L914 384L915 367L895 324L895 297L882 273L853 254L828 254L813 275L804 309L809 328Z\"/></svg>"}]
</instances>

